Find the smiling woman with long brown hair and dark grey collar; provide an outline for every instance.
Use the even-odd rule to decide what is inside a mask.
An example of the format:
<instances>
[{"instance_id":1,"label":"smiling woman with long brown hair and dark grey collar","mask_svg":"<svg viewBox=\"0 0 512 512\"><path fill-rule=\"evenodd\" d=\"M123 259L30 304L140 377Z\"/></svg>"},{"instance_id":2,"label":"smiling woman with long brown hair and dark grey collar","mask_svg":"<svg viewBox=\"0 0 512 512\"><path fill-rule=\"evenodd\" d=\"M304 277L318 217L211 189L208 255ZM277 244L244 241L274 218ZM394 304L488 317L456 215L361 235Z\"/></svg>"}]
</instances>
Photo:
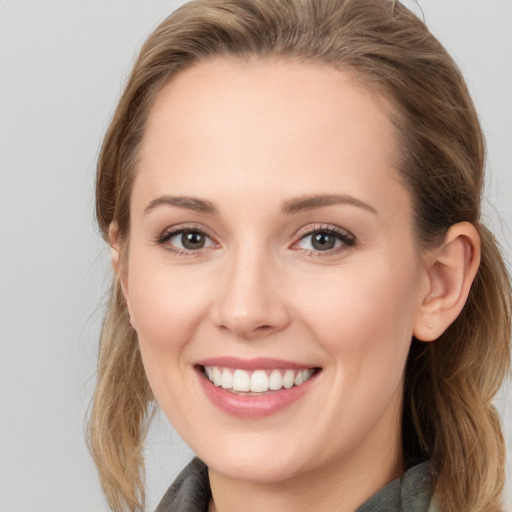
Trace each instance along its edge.
<instances>
[{"instance_id":1,"label":"smiling woman with long brown hair and dark grey collar","mask_svg":"<svg viewBox=\"0 0 512 512\"><path fill-rule=\"evenodd\" d=\"M90 445L140 510L498 511L510 285L464 81L387 0L220 0L149 37L107 132Z\"/></svg>"}]
</instances>

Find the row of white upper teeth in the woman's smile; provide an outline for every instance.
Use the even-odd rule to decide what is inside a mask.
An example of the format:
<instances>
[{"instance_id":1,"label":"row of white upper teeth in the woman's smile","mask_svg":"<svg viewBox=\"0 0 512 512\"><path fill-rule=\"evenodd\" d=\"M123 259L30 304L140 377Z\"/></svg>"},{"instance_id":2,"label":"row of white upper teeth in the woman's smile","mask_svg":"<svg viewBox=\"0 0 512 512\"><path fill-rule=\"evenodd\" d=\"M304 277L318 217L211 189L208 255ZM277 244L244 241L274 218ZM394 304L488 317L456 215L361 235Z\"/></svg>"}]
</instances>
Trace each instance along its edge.
<instances>
[{"instance_id":1,"label":"row of white upper teeth in the woman's smile","mask_svg":"<svg viewBox=\"0 0 512 512\"><path fill-rule=\"evenodd\" d=\"M312 368L307 370L232 370L218 366L205 366L208 379L216 386L236 392L266 393L293 386L300 386L314 373Z\"/></svg>"}]
</instances>

